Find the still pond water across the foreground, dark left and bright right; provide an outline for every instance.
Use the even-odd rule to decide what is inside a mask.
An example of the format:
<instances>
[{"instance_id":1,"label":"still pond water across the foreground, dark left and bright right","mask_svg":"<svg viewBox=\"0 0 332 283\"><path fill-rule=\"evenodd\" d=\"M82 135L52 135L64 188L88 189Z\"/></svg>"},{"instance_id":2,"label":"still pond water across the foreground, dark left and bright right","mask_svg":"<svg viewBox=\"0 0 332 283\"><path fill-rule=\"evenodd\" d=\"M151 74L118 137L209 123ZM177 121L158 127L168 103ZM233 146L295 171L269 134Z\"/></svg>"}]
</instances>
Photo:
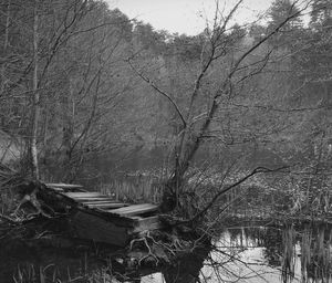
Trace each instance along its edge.
<instances>
[{"instance_id":1,"label":"still pond water across the foreground, dark left and bright right","mask_svg":"<svg viewBox=\"0 0 332 283\"><path fill-rule=\"evenodd\" d=\"M212 249L155 269L124 266L110 247L2 240L0 282L332 282L331 235L323 224L229 227Z\"/></svg>"}]
</instances>

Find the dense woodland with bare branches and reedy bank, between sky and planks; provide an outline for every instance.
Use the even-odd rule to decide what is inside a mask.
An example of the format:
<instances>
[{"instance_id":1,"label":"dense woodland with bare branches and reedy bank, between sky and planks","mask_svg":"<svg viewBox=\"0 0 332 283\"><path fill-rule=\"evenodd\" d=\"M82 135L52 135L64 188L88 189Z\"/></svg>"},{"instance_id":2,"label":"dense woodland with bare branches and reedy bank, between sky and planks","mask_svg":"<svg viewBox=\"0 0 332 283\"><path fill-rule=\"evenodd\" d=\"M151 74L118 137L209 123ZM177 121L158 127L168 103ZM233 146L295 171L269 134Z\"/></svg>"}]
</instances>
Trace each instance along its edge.
<instances>
[{"instance_id":1,"label":"dense woodland with bare branches and reedy bank, between sky and planks","mask_svg":"<svg viewBox=\"0 0 332 283\"><path fill-rule=\"evenodd\" d=\"M12 172L96 185L162 151L165 211L329 214L332 2L234 24L241 2L189 36L103 1L2 0L1 189Z\"/></svg>"}]
</instances>

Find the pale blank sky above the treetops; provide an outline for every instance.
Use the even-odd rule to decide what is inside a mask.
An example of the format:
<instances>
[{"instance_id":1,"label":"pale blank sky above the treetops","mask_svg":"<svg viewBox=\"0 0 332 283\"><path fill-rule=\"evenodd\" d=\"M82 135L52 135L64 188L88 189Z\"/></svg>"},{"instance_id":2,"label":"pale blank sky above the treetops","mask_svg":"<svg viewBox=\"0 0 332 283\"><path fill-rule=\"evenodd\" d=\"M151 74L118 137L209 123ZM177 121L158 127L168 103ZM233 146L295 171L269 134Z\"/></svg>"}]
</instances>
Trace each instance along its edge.
<instances>
[{"instance_id":1,"label":"pale blank sky above the treetops","mask_svg":"<svg viewBox=\"0 0 332 283\"><path fill-rule=\"evenodd\" d=\"M212 20L216 0L106 0L110 9L118 8L131 19L151 23L156 30L195 35L206 28L206 19ZM237 0L221 0L225 12ZM262 14L272 0L245 0L235 17L238 23L252 22Z\"/></svg>"}]
</instances>

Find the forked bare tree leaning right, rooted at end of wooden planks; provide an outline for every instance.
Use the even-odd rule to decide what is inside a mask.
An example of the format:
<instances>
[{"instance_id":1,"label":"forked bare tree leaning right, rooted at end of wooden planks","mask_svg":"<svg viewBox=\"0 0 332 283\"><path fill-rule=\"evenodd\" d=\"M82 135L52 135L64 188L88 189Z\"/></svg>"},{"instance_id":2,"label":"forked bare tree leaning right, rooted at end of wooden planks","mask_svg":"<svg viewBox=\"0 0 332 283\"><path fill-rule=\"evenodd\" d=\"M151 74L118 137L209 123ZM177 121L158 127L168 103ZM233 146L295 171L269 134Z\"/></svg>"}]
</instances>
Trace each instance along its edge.
<instances>
[{"instance_id":1,"label":"forked bare tree leaning right, rooted at end of wooden planks","mask_svg":"<svg viewBox=\"0 0 332 283\"><path fill-rule=\"evenodd\" d=\"M220 105L227 103L237 96L239 88L243 87L243 83L250 78L261 74L271 60L271 51L267 51L263 56L255 56L255 52L259 50L263 43L279 33L279 31L289 21L298 18L301 12L308 8L309 1L301 10L295 10L288 14L278 23L269 33L261 36L257 42L245 50L235 52L236 40L243 35L238 33L231 34L229 22L239 9L242 1L238 1L231 11L222 17L222 13L217 4L212 25L206 30L205 43L201 50L200 67L194 82L193 91L189 94L188 104L180 107L175 94L168 93L158 86L152 78L146 75L134 60L129 59L128 63L135 73L148 83L159 95L164 96L173 105L181 122L181 128L178 133L178 139L175 146L175 164L173 174L170 175L164 190L163 210L173 210L178 205L178 198L184 189L184 177L188 171L190 163L197 150L203 145L203 142L209 137L209 132L212 122L217 116ZM214 65L219 64L224 70L217 78L217 87L203 87L209 72ZM205 106L201 107L201 104ZM264 171L263 169L262 171ZM267 169L269 170L269 169ZM252 176L261 170L256 169L248 175ZM247 179L245 177L245 179ZM240 180L239 180L240 181ZM217 193L218 196L218 193Z\"/></svg>"}]
</instances>

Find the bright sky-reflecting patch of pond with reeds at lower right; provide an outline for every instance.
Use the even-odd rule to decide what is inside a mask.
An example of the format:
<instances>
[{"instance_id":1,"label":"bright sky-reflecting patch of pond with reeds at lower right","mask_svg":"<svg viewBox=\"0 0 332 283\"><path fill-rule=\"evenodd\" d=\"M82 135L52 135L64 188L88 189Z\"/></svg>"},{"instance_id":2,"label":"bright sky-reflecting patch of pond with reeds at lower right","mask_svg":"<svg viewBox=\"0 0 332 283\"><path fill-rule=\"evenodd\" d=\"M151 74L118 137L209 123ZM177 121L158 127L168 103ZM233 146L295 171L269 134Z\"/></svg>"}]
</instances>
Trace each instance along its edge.
<instances>
[{"instance_id":1,"label":"bright sky-reflecting patch of pond with reeds at lower right","mask_svg":"<svg viewBox=\"0 0 332 283\"><path fill-rule=\"evenodd\" d=\"M328 226L235 228L215 245L210 261L224 264L205 282L332 282Z\"/></svg>"}]
</instances>

